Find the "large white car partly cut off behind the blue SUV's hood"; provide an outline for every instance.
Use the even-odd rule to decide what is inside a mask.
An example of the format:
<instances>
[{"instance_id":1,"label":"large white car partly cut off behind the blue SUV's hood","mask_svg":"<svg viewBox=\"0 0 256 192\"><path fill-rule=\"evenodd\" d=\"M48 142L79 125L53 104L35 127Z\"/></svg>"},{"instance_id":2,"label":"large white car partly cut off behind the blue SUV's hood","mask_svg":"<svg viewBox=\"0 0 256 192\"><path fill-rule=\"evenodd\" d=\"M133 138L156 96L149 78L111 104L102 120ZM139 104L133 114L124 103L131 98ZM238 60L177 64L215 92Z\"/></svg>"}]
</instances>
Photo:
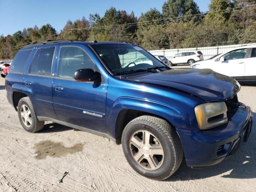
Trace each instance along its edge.
<instances>
[{"instance_id":1,"label":"large white car partly cut off behind the blue SUV's hood","mask_svg":"<svg viewBox=\"0 0 256 192\"><path fill-rule=\"evenodd\" d=\"M256 45L241 46L190 67L210 69L239 81L256 81Z\"/></svg>"}]
</instances>

